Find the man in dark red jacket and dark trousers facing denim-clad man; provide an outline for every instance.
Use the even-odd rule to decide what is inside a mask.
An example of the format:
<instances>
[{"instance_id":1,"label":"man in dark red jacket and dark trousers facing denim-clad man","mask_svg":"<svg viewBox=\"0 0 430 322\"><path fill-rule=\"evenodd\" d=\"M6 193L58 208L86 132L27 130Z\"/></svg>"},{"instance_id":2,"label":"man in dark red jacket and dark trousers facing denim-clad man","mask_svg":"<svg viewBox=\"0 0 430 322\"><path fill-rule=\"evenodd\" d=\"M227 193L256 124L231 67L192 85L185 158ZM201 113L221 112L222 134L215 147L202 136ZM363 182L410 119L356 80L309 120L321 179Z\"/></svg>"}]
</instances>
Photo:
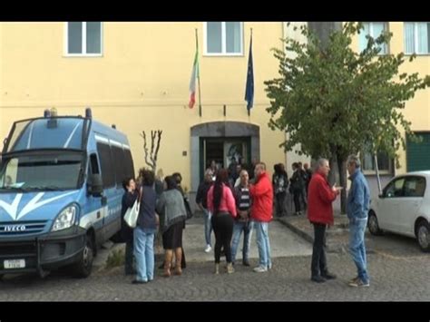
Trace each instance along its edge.
<instances>
[{"instance_id":1,"label":"man in dark red jacket and dark trousers facing denim-clad man","mask_svg":"<svg viewBox=\"0 0 430 322\"><path fill-rule=\"evenodd\" d=\"M324 244L326 227L334 223L332 202L342 188L330 187L327 181L328 171L330 167L327 159L319 159L308 188L308 220L314 225L310 279L317 283L336 278L336 275L328 272Z\"/></svg>"}]
</instances>

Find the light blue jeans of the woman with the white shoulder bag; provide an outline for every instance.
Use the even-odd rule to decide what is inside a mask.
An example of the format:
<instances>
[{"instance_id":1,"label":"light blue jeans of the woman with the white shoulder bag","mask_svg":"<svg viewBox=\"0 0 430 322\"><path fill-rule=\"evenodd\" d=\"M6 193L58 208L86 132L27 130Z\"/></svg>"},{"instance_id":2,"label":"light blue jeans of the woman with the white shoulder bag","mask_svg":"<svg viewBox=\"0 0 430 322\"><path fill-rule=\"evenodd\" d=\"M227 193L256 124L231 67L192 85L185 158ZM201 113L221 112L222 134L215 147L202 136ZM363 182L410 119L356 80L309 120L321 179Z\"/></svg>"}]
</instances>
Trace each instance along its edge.
<instances>
[{"instance_id":1,"label":"light blue jeans of the woman with the white shoulder bag","mask_svg":"<svg viewBox=\"0 0 430 322\"><path fill-rule=\"evenodd\" d=\"M154 277L154 234L155 229L134 229L134 258L136 259L136 280L148 281Z\"/></svg>"}]
</instances>

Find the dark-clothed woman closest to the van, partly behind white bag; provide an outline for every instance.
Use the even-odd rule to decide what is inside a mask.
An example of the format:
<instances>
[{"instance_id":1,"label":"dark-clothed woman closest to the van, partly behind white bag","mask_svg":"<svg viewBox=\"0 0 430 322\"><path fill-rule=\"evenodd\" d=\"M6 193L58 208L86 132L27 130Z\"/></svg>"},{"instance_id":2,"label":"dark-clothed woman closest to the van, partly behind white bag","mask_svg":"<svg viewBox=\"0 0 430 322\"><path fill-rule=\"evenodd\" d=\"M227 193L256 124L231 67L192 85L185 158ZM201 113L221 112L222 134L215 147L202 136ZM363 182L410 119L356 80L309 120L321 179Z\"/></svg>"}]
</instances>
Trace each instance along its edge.
<instances>
[{"instance_id":1,"label":"dark-clothed woman closest to the van, partly behind white bag","mask_svg":"<svg viewBox=\"0 0 430 322\"><path fill-rule=\"evenodd\" d=\"M136 182L132 178L127 178L122 181L122 188L125 190L122 196L121 210L121 238L125 242L125 275L134 274L133 269L133 231L132 228L124 221L125 212L134 205L134 202L139 196L139 191L136 190Z\"/></svg>"}]
</instances>

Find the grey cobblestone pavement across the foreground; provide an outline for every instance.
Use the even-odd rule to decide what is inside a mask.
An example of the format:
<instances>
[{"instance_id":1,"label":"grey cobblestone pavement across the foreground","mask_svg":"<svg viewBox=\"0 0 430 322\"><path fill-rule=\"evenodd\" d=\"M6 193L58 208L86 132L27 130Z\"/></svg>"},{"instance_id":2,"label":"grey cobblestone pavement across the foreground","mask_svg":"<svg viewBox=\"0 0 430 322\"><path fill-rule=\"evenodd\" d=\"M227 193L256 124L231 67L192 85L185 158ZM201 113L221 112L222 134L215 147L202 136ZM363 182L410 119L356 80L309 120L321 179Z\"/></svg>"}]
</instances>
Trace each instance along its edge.
<instances>
[{"instance_id":1,"label":"grey cobblestone pavement across the foreground","mask_svg":"<svg viewBox=\"0 0 430 322\"><path fill-rule=\"evenodd\" d=\"M162 278L161 270L148 284L132 285L122 267L94 273L90 278L69 278L61 273L40 279L16 276L0 282L1 301L429 301L428 254L368 255L370 288L350 288L355 266L347 254L327 255L337 279L316 284L309 280L310 257L273 259L267 273L236 266L236 272L212 274L213 264L190 262L181 277ZM158 264L158 263L157 263Z\"/></svg>"}]
</instances>

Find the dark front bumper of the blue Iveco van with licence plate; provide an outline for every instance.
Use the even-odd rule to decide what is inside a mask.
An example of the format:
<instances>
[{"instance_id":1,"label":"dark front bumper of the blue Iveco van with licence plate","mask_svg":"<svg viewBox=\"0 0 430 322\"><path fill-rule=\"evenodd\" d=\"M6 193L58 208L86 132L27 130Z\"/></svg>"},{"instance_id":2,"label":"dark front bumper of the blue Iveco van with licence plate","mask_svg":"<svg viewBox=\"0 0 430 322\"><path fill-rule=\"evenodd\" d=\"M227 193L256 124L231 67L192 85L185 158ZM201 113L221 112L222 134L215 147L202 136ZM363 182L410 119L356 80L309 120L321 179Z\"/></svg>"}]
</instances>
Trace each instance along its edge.
<instances>
[{"instance_id":1,"label":"dark front bumper of the blue Iveco van with licence plate","mask_svg":"<svg viewBox=\"0 0 430 322\"><path fill-rule=\"evenodd\" d=\"M80 227L37 237L0 239L0 274L37 272L60 268L77 261L86 241Z\"/></svg>"}]
</instances>

